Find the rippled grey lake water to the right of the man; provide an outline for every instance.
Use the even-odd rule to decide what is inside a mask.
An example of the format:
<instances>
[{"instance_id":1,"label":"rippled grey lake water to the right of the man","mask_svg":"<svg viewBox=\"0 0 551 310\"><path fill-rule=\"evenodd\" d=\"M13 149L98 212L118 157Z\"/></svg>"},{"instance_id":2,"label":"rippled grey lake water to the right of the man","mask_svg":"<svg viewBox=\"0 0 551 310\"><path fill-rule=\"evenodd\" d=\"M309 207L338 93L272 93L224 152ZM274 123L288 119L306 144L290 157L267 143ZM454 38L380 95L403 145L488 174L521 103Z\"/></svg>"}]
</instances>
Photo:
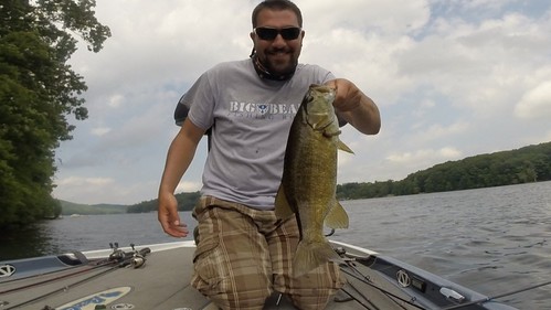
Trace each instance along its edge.
<instances>
[{"instance_id":1,"label":"rippled grey lake water to the right of the man","mask_svg":"<svg viewBox=\"0 0 551 310\"><path fill-rule=\"evenodd\" d=\"M347 202L353 242L488 296L551 280L551 182ZM551 309L551 285L499 299Z\"/></svg>"}]
</instances>

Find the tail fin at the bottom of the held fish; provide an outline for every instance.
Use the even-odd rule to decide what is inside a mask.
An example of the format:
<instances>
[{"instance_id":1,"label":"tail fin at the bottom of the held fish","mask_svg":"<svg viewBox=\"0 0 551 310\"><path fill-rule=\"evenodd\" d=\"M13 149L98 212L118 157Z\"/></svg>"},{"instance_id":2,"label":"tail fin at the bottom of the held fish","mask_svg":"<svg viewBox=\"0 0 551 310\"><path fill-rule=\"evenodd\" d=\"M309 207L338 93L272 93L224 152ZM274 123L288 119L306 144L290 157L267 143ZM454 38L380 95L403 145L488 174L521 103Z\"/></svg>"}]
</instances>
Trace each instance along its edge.
<instances>
[{"instance_id":1,"label":"tail fin at the bottom of the held fish","mask_svg":"<svg viewBox=\"0 0 551 310\"><path fill-rule=\"evenodd\" d=\"M301 240L298 243L293 259L293 275L298 278L331 259L340 259L340 257L328 242Z\"/></svg>"}]
</instances>

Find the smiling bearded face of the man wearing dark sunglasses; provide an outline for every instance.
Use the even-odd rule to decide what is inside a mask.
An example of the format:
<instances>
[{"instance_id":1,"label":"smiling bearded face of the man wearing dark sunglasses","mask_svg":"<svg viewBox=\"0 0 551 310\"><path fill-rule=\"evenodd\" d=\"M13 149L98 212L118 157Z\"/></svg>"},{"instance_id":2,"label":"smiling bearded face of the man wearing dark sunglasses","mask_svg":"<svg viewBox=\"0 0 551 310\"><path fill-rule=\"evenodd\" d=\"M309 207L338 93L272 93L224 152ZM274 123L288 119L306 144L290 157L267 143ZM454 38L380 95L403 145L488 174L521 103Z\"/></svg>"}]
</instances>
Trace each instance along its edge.
<instances>
[{"instance_id":1,"label":"smiling bearded face of the man wearing dark sunglasses","mask_svg":"<svg viewBox=\"0 0 551 310\"><path fill-rule=\"evenodd\" d=\"M285 29L298 26L297 17L290 10L273 11L264 9L256 18L256 29ZM295 71L303 46L303 30L300 30L298 38L294 40L285 40L282 34L277 34L273 40L263 40L254 31L251 32L251 39L253 40L258 61L274 75L285 75Z\"/></svg>"}]
</instances>

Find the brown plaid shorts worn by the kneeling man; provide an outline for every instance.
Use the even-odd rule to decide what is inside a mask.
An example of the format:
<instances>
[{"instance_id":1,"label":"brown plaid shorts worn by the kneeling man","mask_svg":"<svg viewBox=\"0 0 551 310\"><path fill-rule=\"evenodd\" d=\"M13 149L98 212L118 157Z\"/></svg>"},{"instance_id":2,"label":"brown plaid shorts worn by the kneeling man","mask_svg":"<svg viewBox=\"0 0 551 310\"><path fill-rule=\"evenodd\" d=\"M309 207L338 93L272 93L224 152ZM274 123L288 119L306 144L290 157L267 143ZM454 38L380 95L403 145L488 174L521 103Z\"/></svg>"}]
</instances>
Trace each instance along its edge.
<instances>
[{"instance_id":1,"label":"brown plaid shorts worn by the kneeling man","mask_svg":"<svg viewBox=\"0 0 551 310\"><path fill-rule=\"evenodd\" d=\"M193 210L199 242L191 285L222 309L262 309L273 290L299 309L324 309L345 285L336 263L293 278L296 218L203 196Z\"/></svg>"}]
</instances>

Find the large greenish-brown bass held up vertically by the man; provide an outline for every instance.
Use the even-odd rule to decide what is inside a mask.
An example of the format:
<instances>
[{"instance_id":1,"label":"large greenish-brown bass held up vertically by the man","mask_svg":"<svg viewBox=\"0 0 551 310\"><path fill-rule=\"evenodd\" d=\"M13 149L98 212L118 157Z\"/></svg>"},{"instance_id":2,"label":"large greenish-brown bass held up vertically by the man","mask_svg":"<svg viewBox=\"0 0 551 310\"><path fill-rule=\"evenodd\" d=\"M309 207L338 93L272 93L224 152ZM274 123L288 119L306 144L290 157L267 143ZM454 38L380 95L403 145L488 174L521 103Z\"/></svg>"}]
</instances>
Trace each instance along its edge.
<instances>
[{"instance_id":1,"label":"large greenish-brown bass held up vertically by the man","mask_svg":"<svg viewBox=\"0 0 551 310\"><path fill-rule=\"evenodd\" d=\"M335 97L335 88L310 85L293 119L285 150L275 214L277 218L297 218L300 239L293 258L295 277L340 259L324 235L324 225L349 225L348 214L336 197L337 151L353 152L339 139Z\"/></svg>"}]
</instances>

